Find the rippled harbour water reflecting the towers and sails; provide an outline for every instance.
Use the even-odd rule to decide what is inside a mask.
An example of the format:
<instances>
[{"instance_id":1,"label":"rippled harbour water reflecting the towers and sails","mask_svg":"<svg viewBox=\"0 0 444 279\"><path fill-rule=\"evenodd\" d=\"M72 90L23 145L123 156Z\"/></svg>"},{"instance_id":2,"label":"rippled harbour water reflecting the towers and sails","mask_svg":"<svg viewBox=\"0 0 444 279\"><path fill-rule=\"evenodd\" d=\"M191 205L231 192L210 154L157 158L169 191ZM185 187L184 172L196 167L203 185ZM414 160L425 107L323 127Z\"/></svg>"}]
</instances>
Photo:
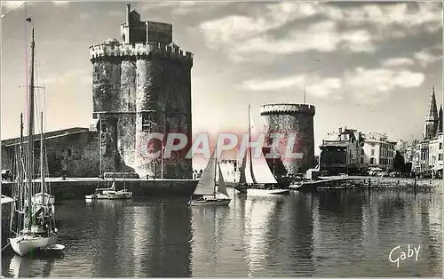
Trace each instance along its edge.
<instances>
[{"instance_id":1,"label":"rippled harbour water reflecting the towers and sails","mask_svg":"<svg viewBox=\"0 0 444 279\"><path fill-rule=\"evenodd\" d=\"M4 276L439 276L442 197L402 191L69 201L57 207L61 255L4 253ZM421 245L416 263L388 260ZM398 254L399 255L399 254Z\"/></svg>"}]
</instances>

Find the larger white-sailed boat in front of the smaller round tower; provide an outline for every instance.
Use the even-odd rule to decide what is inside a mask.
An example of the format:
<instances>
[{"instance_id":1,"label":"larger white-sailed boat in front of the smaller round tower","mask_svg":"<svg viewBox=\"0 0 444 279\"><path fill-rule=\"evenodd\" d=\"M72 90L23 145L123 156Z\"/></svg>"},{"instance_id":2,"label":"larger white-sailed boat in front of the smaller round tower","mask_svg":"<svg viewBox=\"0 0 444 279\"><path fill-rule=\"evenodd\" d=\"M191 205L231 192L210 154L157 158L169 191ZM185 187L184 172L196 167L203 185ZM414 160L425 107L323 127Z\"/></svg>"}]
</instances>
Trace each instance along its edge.
<instances>
[{"instance_id":1,"label":"larger white-sailed boat in front of the smaller round tower","mask_svg":"<svg viewBox=\"0 0 444 279\"><path fill-rule=\"evenodd\" d=\"M266 158L261 154L258 158L251 155L251 114L249 105L249 141L245 155L242 159L241 177L239 183L234 186L241 193L250 195L280 195L289 194L288 188L279 188L273 172L266 163Z\"/></svg>"}]
</instances>

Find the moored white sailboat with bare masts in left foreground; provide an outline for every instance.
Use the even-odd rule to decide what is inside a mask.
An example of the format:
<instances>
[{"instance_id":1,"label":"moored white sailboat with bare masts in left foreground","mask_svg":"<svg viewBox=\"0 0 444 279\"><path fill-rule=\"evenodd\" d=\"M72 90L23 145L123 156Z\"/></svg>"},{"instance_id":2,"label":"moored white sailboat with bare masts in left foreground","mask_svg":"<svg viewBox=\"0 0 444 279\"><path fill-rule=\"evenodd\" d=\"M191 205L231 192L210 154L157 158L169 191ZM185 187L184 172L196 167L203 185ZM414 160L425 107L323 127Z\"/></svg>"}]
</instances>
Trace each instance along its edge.
<instances>
[{"instance_id":1,"label":"moored white sailboat with bare masts in left foreground","mask_svg":"<svg viewBox=\"0 0 444 279\"><path fill-rule=\"evenodd\" d=\"M27 19L31 22L31 19ZM30 251L37 249L55 249L62 250L63 245L57 244L58 230L55 227L54 219L54 202L53 195L45 192L44 184L44 117L42 112L42 132L40 139L40 189L41 192L33 195L33 174L34 174L34 55L35 40L34 28L32 28L31 39L31 65L30 65L30 81L29 81L29 113L28 113L28 168L26 170L26 179L28 183L22 183L23 176L20 175L18 185L20 186L20 194L18 200L19 209L16 211L17 221L15 222L15 233L10 238L12 250L20 256L28 254ZM25 187L26 186L26 187Z\"/></svg>"}]
</instances>

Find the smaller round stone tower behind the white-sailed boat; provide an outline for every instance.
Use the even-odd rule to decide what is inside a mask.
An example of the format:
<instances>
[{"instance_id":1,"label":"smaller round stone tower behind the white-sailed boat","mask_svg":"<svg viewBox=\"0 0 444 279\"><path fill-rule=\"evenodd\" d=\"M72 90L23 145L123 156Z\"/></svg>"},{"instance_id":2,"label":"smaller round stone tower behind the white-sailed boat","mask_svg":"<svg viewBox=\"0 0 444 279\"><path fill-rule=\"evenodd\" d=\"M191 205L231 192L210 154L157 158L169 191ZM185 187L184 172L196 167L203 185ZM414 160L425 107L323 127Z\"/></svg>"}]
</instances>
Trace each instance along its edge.
<instances>
[{"instance_id":1,"label":"smaller round stone tower behind the white-sailed boat","mask_svg":"<svg viewBox=\"0 0 444 279\"><path fill-rule=\"evenodd\" d=\"M281 156L281 163L287 172L304 173L315 164L314 114L315 107L305 104L268 104L260 107L260 115L265 120L266 143ZM285 158L287 142L272 139L272 133L285 133L286 139L294 136L292 152L301 153L302 158Z\"/></svg>"}]
</instances>

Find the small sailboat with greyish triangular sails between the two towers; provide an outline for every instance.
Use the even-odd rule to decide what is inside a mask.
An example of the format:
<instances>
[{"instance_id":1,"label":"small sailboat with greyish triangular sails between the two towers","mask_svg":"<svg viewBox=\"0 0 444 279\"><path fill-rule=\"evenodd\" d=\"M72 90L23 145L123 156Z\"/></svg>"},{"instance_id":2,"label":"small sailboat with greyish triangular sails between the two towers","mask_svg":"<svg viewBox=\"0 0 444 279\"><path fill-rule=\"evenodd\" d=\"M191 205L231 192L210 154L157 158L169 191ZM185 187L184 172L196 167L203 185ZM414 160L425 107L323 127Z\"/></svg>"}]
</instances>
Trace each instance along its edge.
<instances>
[{"instance_id":1,"label":"small sailboat with greyish triangular sails between the two towers","mask_svg":"<svg viewBox=\"0 0 444 279\"><path fill-rule=\"evenodd\" d=\"M199 180L199 183L197 183L193 195L191 195L188 205L228 205L231 202L226 191L224 176L220 170L220 165L215 153L216 150L213 155L211 155L210 161L208 161L207 166L202 173L202 177ZM218 185L216 183L217 173Z\"/></svg>"}]
</instances>

